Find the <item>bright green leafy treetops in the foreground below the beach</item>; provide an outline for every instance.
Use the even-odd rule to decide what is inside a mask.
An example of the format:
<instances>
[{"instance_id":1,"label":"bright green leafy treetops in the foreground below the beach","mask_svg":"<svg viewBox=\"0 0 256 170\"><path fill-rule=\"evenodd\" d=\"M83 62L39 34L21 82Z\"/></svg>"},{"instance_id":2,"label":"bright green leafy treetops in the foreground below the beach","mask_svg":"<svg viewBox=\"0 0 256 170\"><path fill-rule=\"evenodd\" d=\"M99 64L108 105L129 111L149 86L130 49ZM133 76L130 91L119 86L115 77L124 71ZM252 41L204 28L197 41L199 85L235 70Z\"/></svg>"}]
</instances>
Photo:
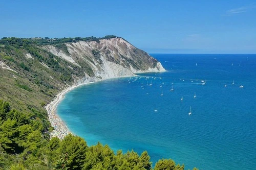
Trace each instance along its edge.
<instances>
[{"instance_id":1,"label":"bright green leafy treetops in the foreground below the beach","mask_svg":"<svg viewBox=\"0 0 256 170\"><path fill-rule=\"evenodd\" d=\"M98 142L88 147L83 138L72 134L63 140L50 139L48 130L36 114L12 109L0 100L0 169L152 169L146 151L115 154L108 145ZM182 170L184 165L161 159L154 169Z\"/></svg>"}]
</instances>

